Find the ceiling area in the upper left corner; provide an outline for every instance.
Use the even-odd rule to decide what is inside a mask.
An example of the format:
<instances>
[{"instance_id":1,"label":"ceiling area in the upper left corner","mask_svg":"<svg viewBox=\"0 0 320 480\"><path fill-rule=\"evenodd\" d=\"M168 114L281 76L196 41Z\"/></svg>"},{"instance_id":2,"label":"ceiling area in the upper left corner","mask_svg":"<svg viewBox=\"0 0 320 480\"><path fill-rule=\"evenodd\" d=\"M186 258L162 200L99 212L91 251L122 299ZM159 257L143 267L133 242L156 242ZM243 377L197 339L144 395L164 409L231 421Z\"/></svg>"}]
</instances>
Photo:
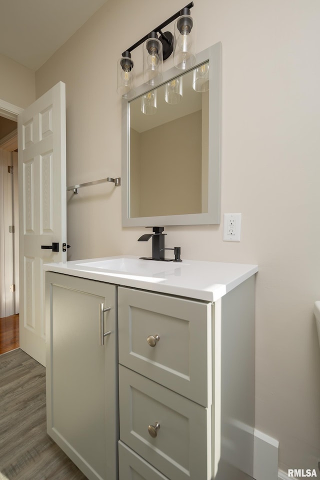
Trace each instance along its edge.
<instances>
[{"instance_id":1,"label":"ceiling area in the upper left corner","mask_svg":"<svg viewBox=\"0 0 320 480\"><path fill-rule=\"evenodd\" d=\"M0 53L37 70L107 0L0 0Z\"/></svg>"}]
</instances>

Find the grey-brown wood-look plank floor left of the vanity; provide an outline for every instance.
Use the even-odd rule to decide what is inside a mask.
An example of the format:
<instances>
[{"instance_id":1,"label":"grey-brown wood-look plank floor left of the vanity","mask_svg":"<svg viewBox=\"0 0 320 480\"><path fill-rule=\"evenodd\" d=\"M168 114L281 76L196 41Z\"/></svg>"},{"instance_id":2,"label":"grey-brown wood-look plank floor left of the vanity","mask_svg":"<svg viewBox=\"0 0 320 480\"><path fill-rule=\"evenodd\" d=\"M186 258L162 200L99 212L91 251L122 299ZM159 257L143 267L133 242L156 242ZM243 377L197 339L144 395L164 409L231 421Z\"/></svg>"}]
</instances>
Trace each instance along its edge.
<instances>
[{"instance_id":1,"label":"grey-brown wood-look plank floor left of the vanity","mask_svg":"<svg viewBox=\"0 0 320 480\"><path fill-rule=\"evenodd\" d=\"M47 435L45 368L19 348L0 355L0 479L86 480Z\"/></svg>"}]
</instances>

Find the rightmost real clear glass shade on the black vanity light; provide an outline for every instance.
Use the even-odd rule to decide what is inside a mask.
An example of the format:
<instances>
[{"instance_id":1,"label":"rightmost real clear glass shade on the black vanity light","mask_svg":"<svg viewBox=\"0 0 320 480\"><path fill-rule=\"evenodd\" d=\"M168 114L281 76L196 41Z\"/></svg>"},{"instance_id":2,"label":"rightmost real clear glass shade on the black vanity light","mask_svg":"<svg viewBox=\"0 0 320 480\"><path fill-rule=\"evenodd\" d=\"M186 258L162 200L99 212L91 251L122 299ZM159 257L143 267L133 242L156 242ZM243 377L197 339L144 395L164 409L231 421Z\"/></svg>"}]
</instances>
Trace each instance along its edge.
<instances>
[{"instance_id":1,"label":"rightmost real clear glass shade on the black vanity light","mask_svg":"<svg viewBox=\"0 0 320 480\"><path fill-rule=\"evenodd\" d=\"M176 38L173 63L180 70L190 68L195 63L195 34L190 15L181 15L174 24Z\"/></svg>"}]
</instances>

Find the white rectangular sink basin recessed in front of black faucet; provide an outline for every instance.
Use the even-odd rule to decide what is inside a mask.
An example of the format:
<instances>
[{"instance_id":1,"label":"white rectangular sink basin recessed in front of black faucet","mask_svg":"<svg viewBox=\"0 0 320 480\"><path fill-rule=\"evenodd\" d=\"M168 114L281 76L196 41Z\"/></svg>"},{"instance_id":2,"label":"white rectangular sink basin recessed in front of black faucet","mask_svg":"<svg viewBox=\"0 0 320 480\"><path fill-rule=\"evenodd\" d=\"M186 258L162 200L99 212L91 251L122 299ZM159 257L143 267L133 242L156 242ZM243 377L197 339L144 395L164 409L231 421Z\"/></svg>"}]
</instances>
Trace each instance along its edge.
<instances>
[{"instance_id":1,"label":"white rectangular sink basin recessed in front of black faucet","mask_svg":"<svg viewBox=\"0 0 320 480\"><path fill-rule=\"evenodd\" d=\"M128 275L145 277L158 276L179 268L181 263L171 261L142 260L140 258L108 258L97 261L78 262L77 265L87 268L98 268L104 271L116 271Z\"/></svg>"}]
</instances>

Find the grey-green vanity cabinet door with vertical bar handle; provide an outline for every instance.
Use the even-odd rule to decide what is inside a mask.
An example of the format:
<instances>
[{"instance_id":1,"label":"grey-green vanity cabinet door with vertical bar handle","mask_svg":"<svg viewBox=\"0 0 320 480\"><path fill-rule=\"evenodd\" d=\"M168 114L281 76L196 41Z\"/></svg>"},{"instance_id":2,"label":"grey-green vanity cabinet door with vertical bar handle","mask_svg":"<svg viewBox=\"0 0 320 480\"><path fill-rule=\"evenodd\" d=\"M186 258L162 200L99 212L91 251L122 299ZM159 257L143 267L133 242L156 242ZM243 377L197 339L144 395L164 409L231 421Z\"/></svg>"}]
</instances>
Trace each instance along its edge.
<instances>
[{"instance_id":1,"label":"grey-green vanity cabinet door with vertical bar handle","mask_svg":"<svg viewBox=\"0 0 320 480\"><path fill-rule=\"evenodd\" d=\"M46 316L47 432L89 480L116 478L115 287L47 272Z\"/></svg>"}]
</instances>

